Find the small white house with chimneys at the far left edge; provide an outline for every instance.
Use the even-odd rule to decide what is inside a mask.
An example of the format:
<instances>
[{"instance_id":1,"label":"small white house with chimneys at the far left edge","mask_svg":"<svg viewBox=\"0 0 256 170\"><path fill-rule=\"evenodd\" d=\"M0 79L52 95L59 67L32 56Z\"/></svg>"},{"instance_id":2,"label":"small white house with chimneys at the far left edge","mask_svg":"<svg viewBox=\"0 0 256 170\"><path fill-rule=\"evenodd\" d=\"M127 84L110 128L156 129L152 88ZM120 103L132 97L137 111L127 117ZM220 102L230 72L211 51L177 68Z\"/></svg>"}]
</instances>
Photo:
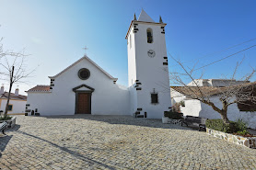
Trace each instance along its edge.
<instances>
[{"instance_id":1,"label":"small white house with chimneys at the far left edge","mask_svg":"<svg viewBox=\"0 0 256 170\"><path fill-rule=\"evenodd\" d=\"M7 96L8 92L5 92L4 85L1 86L0 89L0 111L5 112L6 110L6 103L7 103ZM27 96L19 95L18 88L15 90L15 93L10 94L10 100L8 104L8 115L12 114L24 114L25 108L27 103Z\"/></svg>"}]
</instances>

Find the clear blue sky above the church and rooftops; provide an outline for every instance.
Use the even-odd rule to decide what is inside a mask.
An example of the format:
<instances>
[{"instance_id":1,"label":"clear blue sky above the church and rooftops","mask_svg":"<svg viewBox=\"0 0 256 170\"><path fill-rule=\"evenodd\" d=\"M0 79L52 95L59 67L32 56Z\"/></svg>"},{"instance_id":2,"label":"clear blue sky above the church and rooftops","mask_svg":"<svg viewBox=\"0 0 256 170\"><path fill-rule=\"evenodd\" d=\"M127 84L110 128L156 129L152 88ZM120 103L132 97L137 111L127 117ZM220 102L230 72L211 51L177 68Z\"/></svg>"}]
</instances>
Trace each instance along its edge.
<instances>
[{"instance_id":1,"label":"clear blue sky above the church and rooftops","mask_svg":"<svg viewBox=\"0 0 256 170\"><path fill-rule=\"evenodd\" d=\"M81 58L85 46L89 58L119 78L119 84L127 85L124 37L134 13L138 17L142 7L155 21L161 15L168 24L167 49L188 67L198 61L195 68L199 68L256 44L254 0L0 0L0 6L4 48L25 48L31 54L28 68L37 68L28 80L29 85L19 85L23 94L34 85L49 85L48 76L58 74ZM251 41L223 51L248 40ZM245 56L239 77L256 67L255 54L256 47L197 73L204 71L204 78L229 76L236 62ZM170 58L169 71L181 72Z\"/></svg>"}]
</instances>

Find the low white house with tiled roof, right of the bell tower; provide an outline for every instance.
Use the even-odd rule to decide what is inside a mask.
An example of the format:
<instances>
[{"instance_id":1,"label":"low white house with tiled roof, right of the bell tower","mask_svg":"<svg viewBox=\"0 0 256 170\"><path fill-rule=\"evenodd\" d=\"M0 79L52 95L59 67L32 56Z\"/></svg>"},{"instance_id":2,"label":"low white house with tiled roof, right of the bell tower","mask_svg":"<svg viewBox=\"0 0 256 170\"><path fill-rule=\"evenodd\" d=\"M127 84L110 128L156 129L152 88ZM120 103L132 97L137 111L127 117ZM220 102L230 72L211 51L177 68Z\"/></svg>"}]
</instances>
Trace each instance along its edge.
<instances>
[{"instance_id":1,"label":"low white house with tiled roof, right of the bell tower","mask_svg":"<svg viewBox=\"0 0 256 170\"><path fill-rule=\"evenodd\" d=\"M214 80L209 82L215 82L215 83L204 86L203 82L207 82L207 80ZM219 100L218 94L223 90L223 88L225 88L223 86L230 85L230 82L228 83L228 80L222 80L222 79L206 79L206 80L200 79L200 80L197 80L197 83L199 83L198 85L201 91L204 92L204 94L210 95L210 101L215 103L215 106L217 108L222 108L222 103ZM241 83L248 83L248 82L237 81L236 83L236 81L232 80L232 85L239 85ZM196 88L198 88L192 85L192 83L188 85L192 86L192 88L195 88L195 91L196 91ZM186 86L171 86L170 94L171 94L170 96L171 96L172 105L175 105L175 103L180 103L180 101L184 102L184 106L183 107L180 106L180 111L183 113L184 116L190 115L190 116L202 117L207 119L221 119L220 114L216 112L213 108L200 102L199 100L192 99L190 97L190 92L188 90L188 87ZM245 122L247 122L250 128L256 129L256 112L244 111L244 108L250 108L250 107L253 107L253 110L256 110L255 105L242 106L238 104L232 104L228 106L227 118L233 121L237 119L243 119Z\"/></svg>"}]
</instances>

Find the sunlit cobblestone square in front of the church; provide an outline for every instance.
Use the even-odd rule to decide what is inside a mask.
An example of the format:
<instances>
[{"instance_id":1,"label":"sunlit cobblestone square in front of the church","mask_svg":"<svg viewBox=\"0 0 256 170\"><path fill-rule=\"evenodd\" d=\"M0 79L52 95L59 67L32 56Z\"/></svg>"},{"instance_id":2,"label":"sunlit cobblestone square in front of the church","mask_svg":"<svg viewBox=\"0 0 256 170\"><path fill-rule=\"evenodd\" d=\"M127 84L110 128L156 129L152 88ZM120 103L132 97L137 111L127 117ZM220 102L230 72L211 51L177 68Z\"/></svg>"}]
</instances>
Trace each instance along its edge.
<instances>
[{"instance_id":1,"label":"sunlit cobblestone square in front of the church","mask_svg":"<svg viewBox=\"0 0 256 170\"><path fill-rule=\"evenodd\" d=\"M256 150L160 120L25 117L0 135L2 169L256 169Z\"/></svg>"}]
</instances>

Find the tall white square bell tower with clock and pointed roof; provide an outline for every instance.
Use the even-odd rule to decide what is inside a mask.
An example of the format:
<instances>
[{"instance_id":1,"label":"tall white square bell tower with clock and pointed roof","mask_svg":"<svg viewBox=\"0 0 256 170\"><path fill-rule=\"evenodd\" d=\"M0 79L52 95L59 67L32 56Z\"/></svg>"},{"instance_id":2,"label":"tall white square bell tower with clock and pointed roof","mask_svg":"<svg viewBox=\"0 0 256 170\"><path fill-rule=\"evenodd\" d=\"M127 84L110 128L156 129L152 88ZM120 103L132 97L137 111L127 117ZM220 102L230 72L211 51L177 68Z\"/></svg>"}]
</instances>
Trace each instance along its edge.
<instances>
[{"instance_id":1,"label":"tall white square bell tower with clock and pointed roof","mask_svg":"<svg viewBox=\"0 0 256 170\"><path fill-rule=\"evenodd\" d=\"M134 14L125 39L128 51L128 82L131 114L160 119L169 110L169 68L162 18L155 22L142 9Z\"/></svg>"}]
</instances>

